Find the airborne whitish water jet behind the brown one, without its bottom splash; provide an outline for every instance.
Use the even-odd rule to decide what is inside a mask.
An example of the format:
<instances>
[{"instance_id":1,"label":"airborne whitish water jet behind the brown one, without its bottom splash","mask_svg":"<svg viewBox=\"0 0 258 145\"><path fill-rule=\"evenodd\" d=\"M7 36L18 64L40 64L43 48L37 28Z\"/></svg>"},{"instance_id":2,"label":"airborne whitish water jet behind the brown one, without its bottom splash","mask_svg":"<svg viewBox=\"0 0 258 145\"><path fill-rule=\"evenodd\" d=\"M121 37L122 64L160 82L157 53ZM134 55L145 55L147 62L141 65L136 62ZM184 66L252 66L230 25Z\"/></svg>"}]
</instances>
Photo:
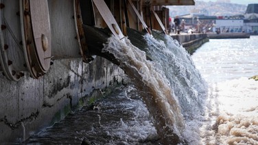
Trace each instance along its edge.
<instances>
[{"instance_id":1,"label":"airborne whitish water jet behind the brown one, without its bottom splash","mask_svg":"<svg viewBox=\"0 0 258 145\"><path fill-rule=\"evenodd\" d=\"M163 70L169 80L184 116L196 114L196 111L202 110L202 98L206 96L207 84L200 76L200 72L194 66L185 48L178 44L177 40L172 40L169 36L164 37L165 42L145 35L148 51L152 60L159 65L157 67Z\"/></svg>"}]
</instances>

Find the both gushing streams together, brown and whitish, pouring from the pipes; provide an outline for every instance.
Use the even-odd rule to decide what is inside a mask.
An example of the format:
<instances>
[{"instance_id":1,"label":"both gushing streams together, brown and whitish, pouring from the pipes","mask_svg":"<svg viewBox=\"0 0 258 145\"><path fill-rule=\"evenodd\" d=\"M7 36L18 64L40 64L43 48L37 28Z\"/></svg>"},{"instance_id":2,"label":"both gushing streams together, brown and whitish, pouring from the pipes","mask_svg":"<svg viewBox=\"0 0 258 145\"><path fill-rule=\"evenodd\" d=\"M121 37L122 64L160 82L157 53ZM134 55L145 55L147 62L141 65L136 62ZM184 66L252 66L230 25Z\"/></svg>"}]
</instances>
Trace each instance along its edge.
<instances>
[{"instance_id":1,"label":"both gushing streams together, brown and whitish, pouring from the pipes","mask_svg":"<svg viewBox=\"0 0 258 145\"><path fill-rule=\"evenodd\" d=\"M200 107L198 92L204 92L204 83L191 57L172 38L167 37L166 44L148 35L144 38L154 61L146 60L145 52L134 47L127 38L121 42L112 36L103 50L115 55L120 62L119 67L139 89L156 121L161 140L164 143L183 142L185 121L181 112L187 115L185 112L189 112L189 105ZM193 85L194 81L200 85Z\"/></svg>"}]
</instances>

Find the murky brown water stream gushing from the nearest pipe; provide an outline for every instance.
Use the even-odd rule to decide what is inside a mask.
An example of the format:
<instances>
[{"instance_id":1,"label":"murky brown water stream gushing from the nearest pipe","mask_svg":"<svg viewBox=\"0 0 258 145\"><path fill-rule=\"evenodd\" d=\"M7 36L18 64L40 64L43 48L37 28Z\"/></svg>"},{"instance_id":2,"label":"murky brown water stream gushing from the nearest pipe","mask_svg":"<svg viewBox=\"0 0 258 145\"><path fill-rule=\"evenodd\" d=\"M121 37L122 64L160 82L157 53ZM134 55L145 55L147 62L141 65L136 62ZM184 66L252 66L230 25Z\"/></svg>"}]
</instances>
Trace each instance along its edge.
<instances>
[{"instance_id":1,"label":"murky brown water stream gushing from the nearest pipe","mask_svg":"<svg viewBox=\"0 0 258 145\"><path fill-rule=\"evenodd\" d=\"M184 128L181 109L159 64L146 60L145 53L134 47L128 39L120 42L115 37L111 37L104 51L115 55L120 62L120 67L139 89L154 117L156 129L161 137L168 137L172 133L181 137ZM178 139L171 138L174 142L178 142L176 141Z\"/></svg>"}]
</instances>

